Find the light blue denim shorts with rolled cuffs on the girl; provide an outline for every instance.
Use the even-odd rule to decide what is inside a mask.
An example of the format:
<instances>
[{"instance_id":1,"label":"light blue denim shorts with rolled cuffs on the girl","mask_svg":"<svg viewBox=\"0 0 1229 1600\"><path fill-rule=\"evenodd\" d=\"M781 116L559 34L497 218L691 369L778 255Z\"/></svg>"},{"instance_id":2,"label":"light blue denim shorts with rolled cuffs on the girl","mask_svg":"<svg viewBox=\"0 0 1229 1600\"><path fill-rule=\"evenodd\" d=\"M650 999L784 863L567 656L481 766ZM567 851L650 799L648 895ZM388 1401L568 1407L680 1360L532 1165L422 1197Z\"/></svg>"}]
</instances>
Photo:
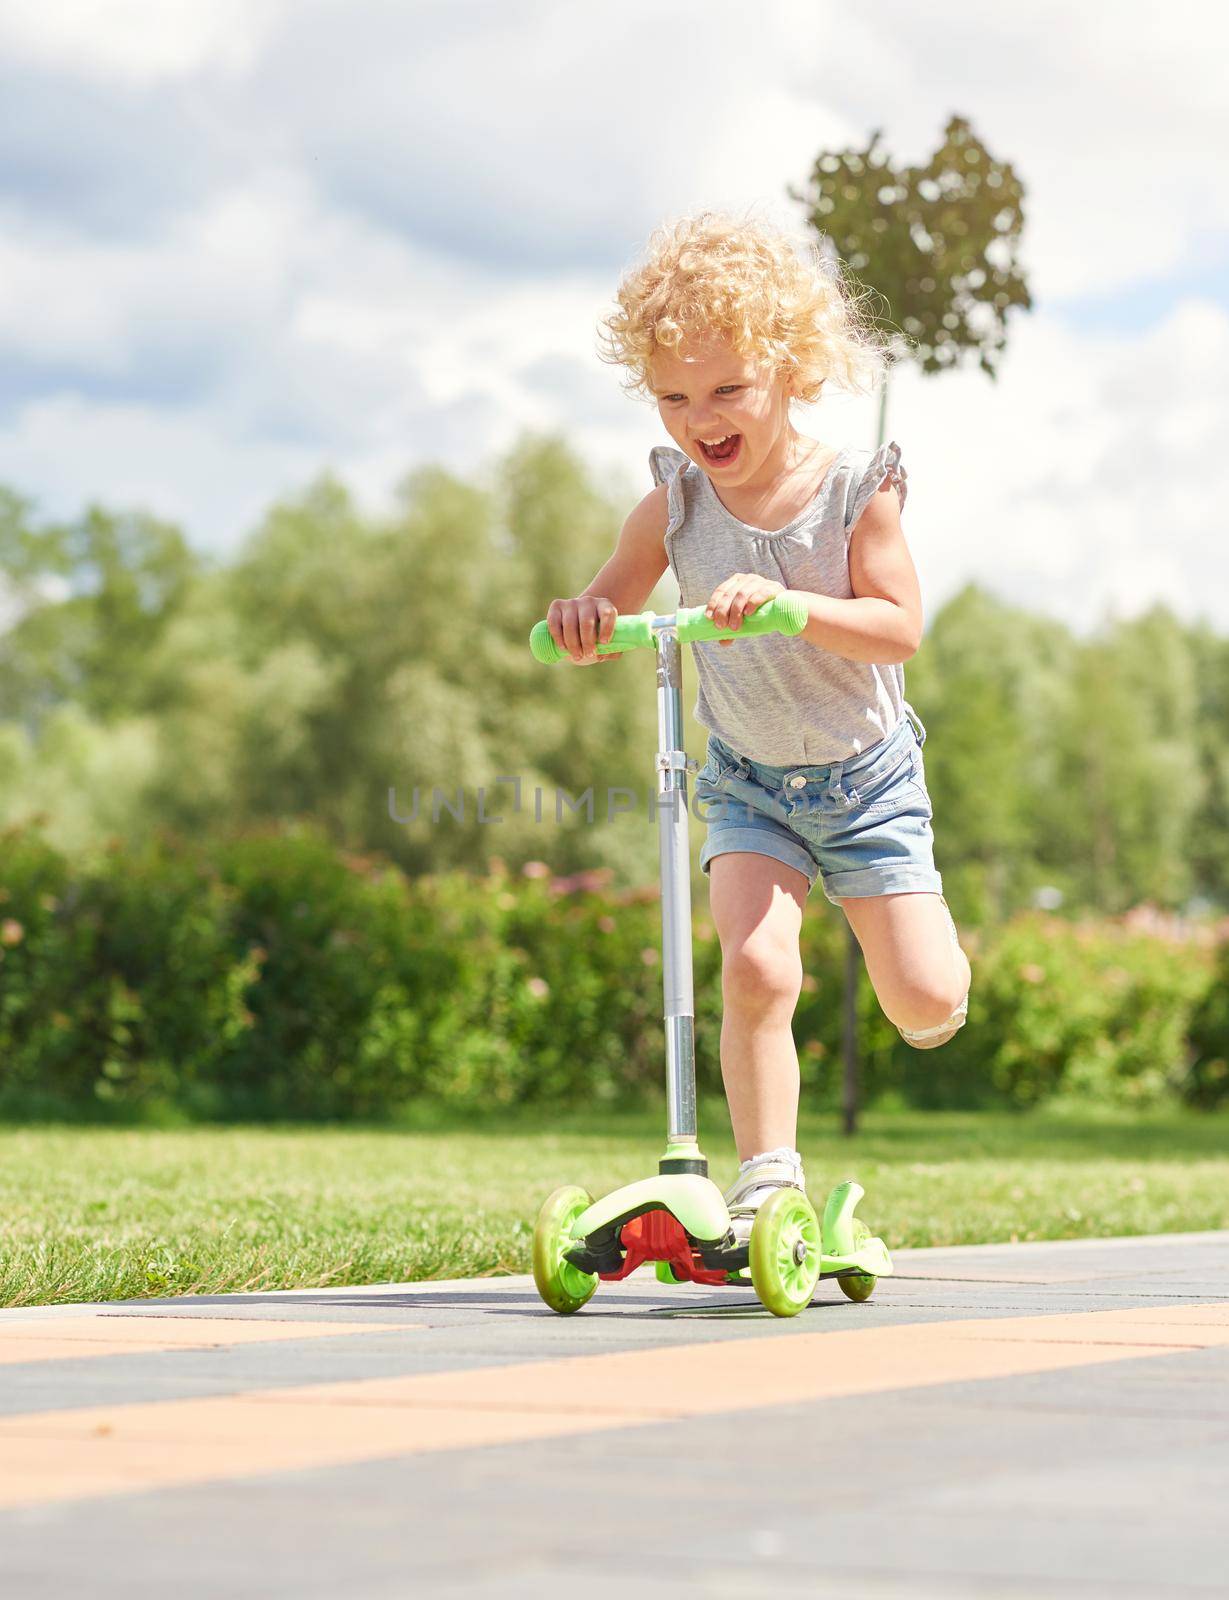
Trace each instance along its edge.
<instances>
[{"instance_id":1,"label":"light blue denim shorts with rolled cuffs on the girl","mask_svg":"<svg viewBox=\"0 0 1229 1600\"><path fill-rule=\"evenodd\" d=\"M695 787L709 830L701 869L714 856L749 850L805 872L808 893L821 878L834 906L872 894L941 894L925 742L912 706L887 739L826 766L767 766L711 733Z\"/></svg>"}]
</instances>

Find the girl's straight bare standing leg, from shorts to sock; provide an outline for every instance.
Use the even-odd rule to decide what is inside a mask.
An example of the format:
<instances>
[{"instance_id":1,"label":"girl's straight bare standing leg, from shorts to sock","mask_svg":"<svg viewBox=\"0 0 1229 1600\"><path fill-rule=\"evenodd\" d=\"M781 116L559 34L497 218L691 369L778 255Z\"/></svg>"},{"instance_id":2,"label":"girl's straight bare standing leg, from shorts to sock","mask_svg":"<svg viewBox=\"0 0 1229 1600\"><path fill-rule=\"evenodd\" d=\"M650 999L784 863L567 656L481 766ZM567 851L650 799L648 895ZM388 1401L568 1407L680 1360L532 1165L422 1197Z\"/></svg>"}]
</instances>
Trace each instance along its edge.
<instances>
[{"instance_id":1,"label":"girl's straight bare standing leg, from shorts to sock","mask_svg":"<svg viewBox=\"0 0 1229 1600\"><path fill-rule=\"evenodd\" d=\"M794 1008L807 878L751 851L714 856L709 902L722 944L722 1080L739 1160L799 1136Z\"/></svg>"}]
</instances>

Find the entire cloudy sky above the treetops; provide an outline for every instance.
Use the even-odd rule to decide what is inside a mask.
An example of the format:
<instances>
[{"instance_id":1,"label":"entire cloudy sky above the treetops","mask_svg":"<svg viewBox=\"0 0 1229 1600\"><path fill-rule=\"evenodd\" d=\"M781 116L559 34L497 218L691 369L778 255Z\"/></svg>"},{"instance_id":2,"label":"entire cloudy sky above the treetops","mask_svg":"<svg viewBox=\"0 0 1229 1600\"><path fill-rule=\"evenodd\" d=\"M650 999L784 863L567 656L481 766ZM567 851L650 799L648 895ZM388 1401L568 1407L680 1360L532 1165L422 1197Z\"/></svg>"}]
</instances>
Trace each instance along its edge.
<instances>
[{"instance_id":1,"label":"entire cloudy sky above the treetops","mask_svg":"<svg viewBox=\"0 0 1229 1600\"><path fill-rule=\"evenodd\" d=\"M1229 627L1224 46L1207 3L0 0L0 482L237 549L560 429L627 504L666 435L594 352L651 229L800 224L823 147L952 112L1027 186L997 382L893 384L928 610ZM872 402L800 416L872 442Z\"/></svg>"}]
</instances>

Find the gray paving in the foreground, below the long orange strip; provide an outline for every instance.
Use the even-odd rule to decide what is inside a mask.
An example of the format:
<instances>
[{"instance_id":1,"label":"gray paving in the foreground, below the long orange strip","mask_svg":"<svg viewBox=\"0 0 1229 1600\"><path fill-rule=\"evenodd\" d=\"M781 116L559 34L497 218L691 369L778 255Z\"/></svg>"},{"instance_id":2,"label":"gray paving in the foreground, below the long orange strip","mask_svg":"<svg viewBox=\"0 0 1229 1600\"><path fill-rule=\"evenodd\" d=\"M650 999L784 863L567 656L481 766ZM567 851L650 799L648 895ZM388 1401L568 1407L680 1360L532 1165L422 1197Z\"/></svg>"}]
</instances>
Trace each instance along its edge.
<instances>
[{"instance_id":1,"label":"gray paving in the foreground, below the long orange strip","mask_svg":"<svg viewBox=\"0 0 1229 1600\"><path fill-rule=\"evenodd\" d=\"M85 1550L130 1595L1224 1592L1223 1424L1091 1427L1013 1384L58 1507L10 1518L5 1566L30 1594Z\"/></svg>"}]
</instances>

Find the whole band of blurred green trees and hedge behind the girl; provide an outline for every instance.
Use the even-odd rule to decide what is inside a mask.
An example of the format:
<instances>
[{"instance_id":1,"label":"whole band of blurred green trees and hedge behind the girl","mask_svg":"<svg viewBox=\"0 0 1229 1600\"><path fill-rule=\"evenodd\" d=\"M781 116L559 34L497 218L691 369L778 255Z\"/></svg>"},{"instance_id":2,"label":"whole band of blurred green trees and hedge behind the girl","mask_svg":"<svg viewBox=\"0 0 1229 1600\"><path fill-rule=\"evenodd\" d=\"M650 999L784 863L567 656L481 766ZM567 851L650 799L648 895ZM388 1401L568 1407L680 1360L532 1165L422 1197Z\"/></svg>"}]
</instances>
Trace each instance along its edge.
<instances>
[{"instance_id":1,"label":"whole band of blurred green trees and hedge behind the girl","mask_svg":"<svg viewBox=\"0 0 1229 1600\"><path fill-rule=\"evenodd\" d=\"M621 499L526 435L478 482L414 472L382 517L320 478L219 563L139 512L53 525L0 493L0 1112L656 1094L653 662L528 651ZM651 605L675 603L666 578ZM967 587L906 672L976 981L968 1029L919 1054L863 978L867 1099L1218 1104L1229 640L1160 606L1075 637ZM610 790L635 810L606 821ZM698 867L693 890L717 1093ZM811 1104L835 1104L840 936L815 896Z\"/></svg>"}]
</instances>

